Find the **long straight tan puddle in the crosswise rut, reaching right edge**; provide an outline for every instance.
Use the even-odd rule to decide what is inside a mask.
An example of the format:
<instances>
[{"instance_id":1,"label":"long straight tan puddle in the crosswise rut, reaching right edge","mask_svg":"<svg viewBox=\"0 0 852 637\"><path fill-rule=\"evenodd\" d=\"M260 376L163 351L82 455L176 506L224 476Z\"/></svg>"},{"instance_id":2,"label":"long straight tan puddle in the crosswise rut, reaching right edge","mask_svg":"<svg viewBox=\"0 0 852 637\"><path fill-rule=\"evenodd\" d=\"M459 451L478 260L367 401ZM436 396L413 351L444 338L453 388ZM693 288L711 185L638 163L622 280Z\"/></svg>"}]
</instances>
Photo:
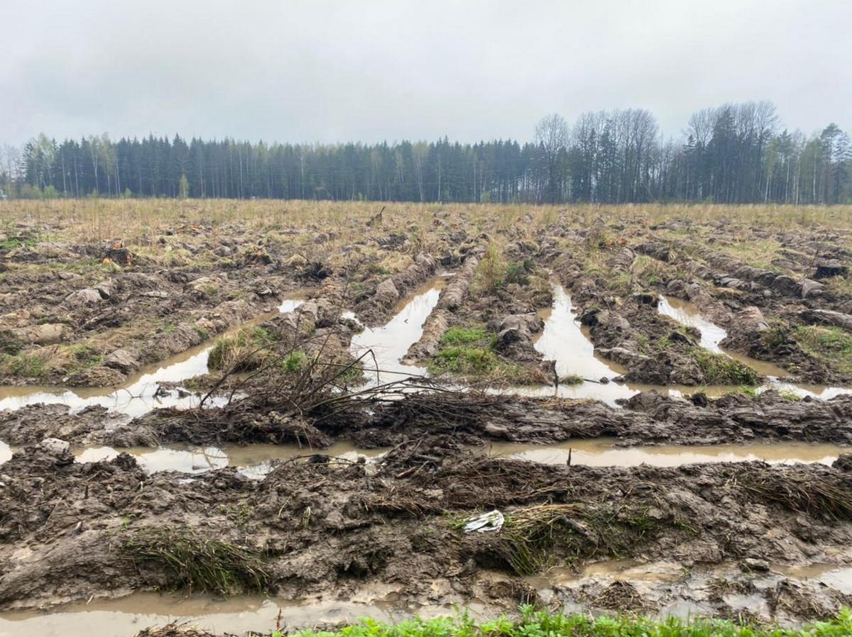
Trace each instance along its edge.
<instances>
[{"instance_id":1,"label":"long straight tan puddle in the crosswise rut, reaching right edge","mask_svg":"<svg viewBox=\"0 0 852 637\"><path fill-rule=\"evenodd\" d=\"M491 456L505 456L542 462L571 463L589 467L679 467L697 462L746 462L761 460L772 464L820 462L830 465L846 448L837 445L815 445L803 442L770 443L767 445L659 445L617 447L614 439L577 439L556 445L527 445L521 443L492 443Z\"/></svg>"}]
</instances>

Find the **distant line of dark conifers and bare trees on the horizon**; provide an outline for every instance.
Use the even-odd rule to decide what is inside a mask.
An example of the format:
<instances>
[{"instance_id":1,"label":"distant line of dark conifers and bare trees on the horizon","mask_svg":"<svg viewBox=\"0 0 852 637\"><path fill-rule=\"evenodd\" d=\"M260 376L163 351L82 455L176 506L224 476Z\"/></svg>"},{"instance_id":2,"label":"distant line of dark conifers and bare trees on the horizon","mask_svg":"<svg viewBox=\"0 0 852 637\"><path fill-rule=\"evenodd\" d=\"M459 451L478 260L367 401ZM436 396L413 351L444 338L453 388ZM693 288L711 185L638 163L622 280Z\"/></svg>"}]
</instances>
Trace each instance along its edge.
<instances>
[{"instance_id":1,"label":"distant line of dark conifers and bare trees on the horizon","mask_svg":"<svg viewBox=\"0 0 852 637\"><path fill-rule=\"evenodd\" d=\"M533 141L290 144L38 135L0 149L5 198L279 198L439 203L852 203L852 142L836 124L781 127L749 101L695 112L664 139L651 112L542 118Z\"/></svg>"}]
</instances>

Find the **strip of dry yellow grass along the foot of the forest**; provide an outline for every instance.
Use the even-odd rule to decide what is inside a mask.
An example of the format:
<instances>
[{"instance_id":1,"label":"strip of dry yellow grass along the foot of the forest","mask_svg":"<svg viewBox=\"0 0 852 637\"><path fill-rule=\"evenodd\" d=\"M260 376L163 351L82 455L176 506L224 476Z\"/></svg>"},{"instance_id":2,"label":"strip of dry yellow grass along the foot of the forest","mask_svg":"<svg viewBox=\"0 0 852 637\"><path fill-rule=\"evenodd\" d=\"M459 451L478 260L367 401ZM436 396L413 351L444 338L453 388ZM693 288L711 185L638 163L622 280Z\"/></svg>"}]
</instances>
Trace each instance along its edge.
<instances>
[{"instance_id":1,"label":"strip of dry yellow grass along the foot of the forest","mask_svg":"<svg viewBox=\"0 0 852 637\"><path fill-rule=\"evenodd\" d=\"M382 209L383 227L428 235L436 219L469 222L469 228L507 231L521 225L532 232L556 222L586 227L598 217L609 223L633 221L656 225L671 219L696 223L721 221L732 227L825 229L852 232L852 206L778 206L717 204L625 204L530 206L508 204L411 204L381 202L282 201L269 199L49 199L0 202L6 223L58 224L79 238L141 238L183 224L240 224L250 229L317 227L363 232ZM528 222L527 222L528 221ZM534 232L533 232L534 233ZM339 243L332 239L331 243ZM331 247L331 246L329 246Z\"/></svg>"}]
</instances>

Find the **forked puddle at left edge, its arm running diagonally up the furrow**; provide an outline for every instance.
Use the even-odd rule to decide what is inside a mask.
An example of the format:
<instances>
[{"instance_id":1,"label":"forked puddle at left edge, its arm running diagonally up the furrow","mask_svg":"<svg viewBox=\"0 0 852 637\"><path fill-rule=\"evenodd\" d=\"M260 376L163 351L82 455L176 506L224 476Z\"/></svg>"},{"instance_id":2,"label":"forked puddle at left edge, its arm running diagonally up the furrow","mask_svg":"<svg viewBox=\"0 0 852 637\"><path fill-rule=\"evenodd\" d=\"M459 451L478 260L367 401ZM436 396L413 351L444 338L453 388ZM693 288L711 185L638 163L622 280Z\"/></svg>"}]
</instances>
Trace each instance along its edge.
<instances>
[{"instance_id":1,"label":"forked puddle at left edge, its arm running diagonally up the furrow","mask_svg":"<svg viewBox=\"0 0 852 637\"><path fill-rule=\"evenodd\" d=\"M304 302L301 294L291 295L283 301L279 312L291 312ZM271 319L275 313L265 313L245 324L239 324L233 331L245 325L259 324ZM227 333L227 332L226 332ZM216 338L222 335L216 336ZM170 393L166 396L154 396L158 382L181 382L193 376L207 373L207 359L216 339L204 341L196 347L148 365L134 376L130 376L122 387L0 387L0 410L20 409L25 405L63 404L72 410L82 410L90 405L101 405L109 410L120 411L128 416L141 416L155 407L187 408L198 405L199 397L193 394L178 396ZM219 399L208 401L210 405L222 404Z\"/></svg>"}]
</instances>

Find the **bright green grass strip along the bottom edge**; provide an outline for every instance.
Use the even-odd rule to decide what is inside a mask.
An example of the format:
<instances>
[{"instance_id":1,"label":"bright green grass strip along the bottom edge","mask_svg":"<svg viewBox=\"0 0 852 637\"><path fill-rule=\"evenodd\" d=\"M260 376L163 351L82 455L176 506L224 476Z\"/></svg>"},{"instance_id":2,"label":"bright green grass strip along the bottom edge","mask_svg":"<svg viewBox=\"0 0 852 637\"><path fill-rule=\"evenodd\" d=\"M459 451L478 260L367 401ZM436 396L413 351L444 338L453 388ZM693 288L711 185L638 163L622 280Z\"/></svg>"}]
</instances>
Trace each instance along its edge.
<instances>
[{"instance_id":1,"label":"bright green grass strip along the bottom edge","mask_svg":"<svg viewBox=\"0 0 852 637\"><path fill-rule=\"evenodd\" d=\"M521 617L500 617L475 623L469 617L409 619L384 624L371 619L341 628L337 632L302 631L300 637L841 637L852 635L852 611L844 609L837 617L807 628L760 628L722 620L683 622L669 618L586 617L536 611L521 607ZM281 637L273 633L273 637Z\"/></svg>"}]
</instances>

